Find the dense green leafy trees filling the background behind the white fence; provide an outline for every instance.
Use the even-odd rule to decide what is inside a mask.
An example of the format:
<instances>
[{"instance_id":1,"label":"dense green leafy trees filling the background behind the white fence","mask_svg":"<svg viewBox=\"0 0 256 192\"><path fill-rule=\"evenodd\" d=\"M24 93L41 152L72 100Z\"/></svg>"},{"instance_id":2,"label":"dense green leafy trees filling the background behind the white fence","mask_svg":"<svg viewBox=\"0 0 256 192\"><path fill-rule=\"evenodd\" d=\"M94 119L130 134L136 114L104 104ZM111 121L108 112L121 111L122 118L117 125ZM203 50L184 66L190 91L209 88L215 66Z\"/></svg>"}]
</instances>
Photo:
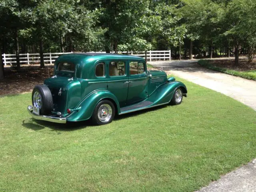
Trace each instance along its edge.
<instances>
[{"instance_id":1,"label":"dense green leafy trees filling the background behind the white fence","mask_svg":"<svg viewBox=\"0 0 256 192\"><path fill-rule=\"evenodd\" d=\"M41 67L44 52L171 49L192 58L233 48L238 64L255 50L255 10L254 0L0 0L0 45L17 58L40 52Z\"/></svg>"}]
</instances>

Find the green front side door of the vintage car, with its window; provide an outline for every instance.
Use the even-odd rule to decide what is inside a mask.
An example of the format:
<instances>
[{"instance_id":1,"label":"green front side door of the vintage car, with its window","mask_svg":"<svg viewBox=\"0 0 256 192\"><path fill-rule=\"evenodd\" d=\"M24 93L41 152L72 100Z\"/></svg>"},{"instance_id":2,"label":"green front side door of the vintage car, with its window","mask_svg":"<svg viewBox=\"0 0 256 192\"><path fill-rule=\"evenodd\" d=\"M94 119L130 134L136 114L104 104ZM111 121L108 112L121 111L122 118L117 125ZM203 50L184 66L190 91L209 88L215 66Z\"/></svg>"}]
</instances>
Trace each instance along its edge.
<instances>
[{"instance_id":1,"label":"green front side door of the vintage car, with its window","mask_svg":"<svg viewBox=\"0 0 256 192\"><path fill-rule=\"evenodd\" d=\"M129 61L129 88L127 104L139 102L148 97L148 76L146 64L142 61Z\"/></svg>"}]
</instances>

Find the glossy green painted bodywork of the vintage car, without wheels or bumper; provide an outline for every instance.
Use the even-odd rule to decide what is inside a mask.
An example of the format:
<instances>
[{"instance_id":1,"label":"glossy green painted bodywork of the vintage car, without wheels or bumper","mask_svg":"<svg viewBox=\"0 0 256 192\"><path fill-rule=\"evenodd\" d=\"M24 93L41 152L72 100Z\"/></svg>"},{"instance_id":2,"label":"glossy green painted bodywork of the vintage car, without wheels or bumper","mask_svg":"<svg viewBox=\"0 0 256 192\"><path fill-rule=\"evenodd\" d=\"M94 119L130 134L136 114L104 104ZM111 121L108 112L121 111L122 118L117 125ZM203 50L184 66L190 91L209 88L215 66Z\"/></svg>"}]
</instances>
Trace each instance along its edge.
<instances>
[{"instance_id":1,"label":"glossy green painted bodywork of the vintage car, without wheels or bumper","mask_svg":"<svg viewBox=\"0 0 256 192\"><path fill-rule=\"evenodd\" d=\"M58 64L63 62L74 64L74 72L58 71ZM124 64L120 70L122 76L113 76L111 67L114 62ZM135 69L130 68L130 62L139 63L140 72L137 66L133 65ZM100 63L104 65L104 74L96 76L96 66ZM134 74L136 67L137 74ZM52 91L54 112L61 112L67 121L89 119L95 106L104 99L111 100L115 104L118 114L124 114L166 104L170 102L174 90L178 87L182 87L184 93L187 93L183 83L175 79L170 81L170 78L167 81L167 75L163 71L148 71L145 60L136 56L64 54L56 59L54 75L56 76L46 79L44 84ZM145 101L150 104L141 107L140 102ZM122 110L127 106L135 108ZM71 109L71 114L67 114L68 108Z\"/></svg>"}]
</instances>

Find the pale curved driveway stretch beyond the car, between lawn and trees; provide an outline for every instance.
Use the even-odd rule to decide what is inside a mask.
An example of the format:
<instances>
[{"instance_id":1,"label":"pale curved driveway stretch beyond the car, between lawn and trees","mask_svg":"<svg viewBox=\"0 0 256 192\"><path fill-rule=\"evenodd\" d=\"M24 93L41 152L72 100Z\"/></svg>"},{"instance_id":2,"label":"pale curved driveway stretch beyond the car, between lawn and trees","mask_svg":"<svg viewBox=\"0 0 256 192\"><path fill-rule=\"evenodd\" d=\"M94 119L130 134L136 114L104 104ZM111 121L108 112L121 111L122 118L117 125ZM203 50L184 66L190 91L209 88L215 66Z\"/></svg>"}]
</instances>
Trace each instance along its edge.
<instances>
[{"instance_id":1,"label":"pale curved driveway stretch beyond the car, between lawn and trees","mask_svg":"<svg viewBox=\"0 0 256 192\"><path fill-rule=\"evenodd\" d=\"M256 110L256 81L203 68L197 62L198 60L158 61L150 64L163 68L167 74L230 96Z\"/></svg>"}]
</instances>

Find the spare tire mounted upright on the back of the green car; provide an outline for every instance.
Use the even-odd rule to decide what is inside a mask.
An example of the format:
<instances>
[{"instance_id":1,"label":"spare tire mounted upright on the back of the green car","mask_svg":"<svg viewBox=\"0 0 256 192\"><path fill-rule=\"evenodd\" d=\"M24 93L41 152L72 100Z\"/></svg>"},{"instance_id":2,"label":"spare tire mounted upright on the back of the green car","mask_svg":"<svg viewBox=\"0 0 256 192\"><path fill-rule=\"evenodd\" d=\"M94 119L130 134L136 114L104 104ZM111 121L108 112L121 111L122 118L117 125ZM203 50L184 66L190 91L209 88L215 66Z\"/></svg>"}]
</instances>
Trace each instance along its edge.
<instances>
[{"instance_id":1,"label":"spare tire mounted upright on the back of the green car","mask_svg":"<svg viewBox=\"0 0 256 192\"><path fill-rule=\"evenodd\" d=\"M39 108L40 115L48 115L52 110L52 93L46 85L36 85L32 92L32 105Z\"/></svg>"}]
</instances>

